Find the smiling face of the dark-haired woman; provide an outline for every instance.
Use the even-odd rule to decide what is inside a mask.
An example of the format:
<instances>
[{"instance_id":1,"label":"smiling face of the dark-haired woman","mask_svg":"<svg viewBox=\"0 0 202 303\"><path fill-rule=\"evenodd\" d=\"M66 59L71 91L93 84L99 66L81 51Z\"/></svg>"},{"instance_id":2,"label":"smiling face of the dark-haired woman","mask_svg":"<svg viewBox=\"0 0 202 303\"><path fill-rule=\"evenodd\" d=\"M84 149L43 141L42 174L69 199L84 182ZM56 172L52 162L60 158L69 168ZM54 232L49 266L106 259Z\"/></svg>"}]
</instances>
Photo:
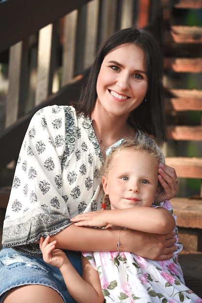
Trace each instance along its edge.
<instances>
[{"instance_id":1,"label":"smiling face of the dark-haired woman","mask_svg":"<svg viewBox=\"0 0 202 303\"><path fill-rule=\"evenodd\" d=\"M140 46L124 44L104 58L97 77L97 103L101 111L128 117L147 92L144 53Z\"/></svg>"}]
</instances>

